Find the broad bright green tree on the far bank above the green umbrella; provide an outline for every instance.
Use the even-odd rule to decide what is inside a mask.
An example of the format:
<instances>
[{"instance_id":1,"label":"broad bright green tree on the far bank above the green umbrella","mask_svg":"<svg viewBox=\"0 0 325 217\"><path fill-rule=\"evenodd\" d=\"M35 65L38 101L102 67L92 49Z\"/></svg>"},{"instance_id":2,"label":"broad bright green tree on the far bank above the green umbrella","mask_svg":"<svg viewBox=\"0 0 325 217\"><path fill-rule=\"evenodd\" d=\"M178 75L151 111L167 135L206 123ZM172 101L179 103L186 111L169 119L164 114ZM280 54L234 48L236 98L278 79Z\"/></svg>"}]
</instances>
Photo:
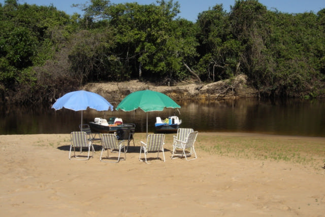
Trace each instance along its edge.
<instances>
[{"instance_id":1,"label":"broad bright green tree on the far bank above the green umbrella","mask_svg":"<svg viewBox=\"0 0 325 217\"><path fill-rule=\"evenodd\" d=\"M118 4L109 7L110 25L116 29L116 55L124 60L129 71L138 70L144 76L165 77L172 64L164 53L171 40L172 19L179 13L173 1L158 1L159 5ZM169 66L168 66L169 65Z\"/></svg>"}]
</instances>

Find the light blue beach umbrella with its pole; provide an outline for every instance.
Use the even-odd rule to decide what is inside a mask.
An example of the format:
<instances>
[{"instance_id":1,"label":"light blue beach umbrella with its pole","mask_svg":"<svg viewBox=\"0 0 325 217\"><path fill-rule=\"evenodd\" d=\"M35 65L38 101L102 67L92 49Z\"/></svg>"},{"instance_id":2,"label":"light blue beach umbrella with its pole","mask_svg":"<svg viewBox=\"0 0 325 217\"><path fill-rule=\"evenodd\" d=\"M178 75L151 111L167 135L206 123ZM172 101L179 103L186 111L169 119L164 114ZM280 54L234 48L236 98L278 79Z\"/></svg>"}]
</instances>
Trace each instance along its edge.
<instances>
[{"instance_id":1,"label":"light blue beach umbrella with its pole","mask_svg":"<svg viewBox=\"0 0 325 217\"><path fill-rule=\"evenodd\" d=\"M81 126L82 126L82 113L87 108L95 109L97 111L113 111L113 106L101 95L89 92L86 90L78 90L68 92L56 100L52 105L52 108L59 110L61 108L67 108L74 111L81 111Z\"/></svg>"}]
</instances>

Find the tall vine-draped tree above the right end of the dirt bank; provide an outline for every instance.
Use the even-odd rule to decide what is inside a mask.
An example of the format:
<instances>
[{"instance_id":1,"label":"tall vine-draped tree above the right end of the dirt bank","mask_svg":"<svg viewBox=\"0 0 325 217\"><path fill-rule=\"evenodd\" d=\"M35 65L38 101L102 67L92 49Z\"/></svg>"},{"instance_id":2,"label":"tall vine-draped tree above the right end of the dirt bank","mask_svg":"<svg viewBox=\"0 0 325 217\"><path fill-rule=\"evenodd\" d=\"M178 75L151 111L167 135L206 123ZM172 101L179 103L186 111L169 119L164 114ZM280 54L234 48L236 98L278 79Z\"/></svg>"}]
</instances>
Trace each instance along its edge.
<instances>
[{"instance_id":1,"label":"tall vine-draped tree above the right end of the dirt bank","mask_svg":"<svg viewBox=\"0 0 325 217\"><path fill-rule=\"evenodd\" d=\"M256 0L236 1L231 7L232 33L240 41L240 67L253 85L262 90L272 86L274 60L266 45L272 29L267 9Z\"/></svg>"}]
</instances>

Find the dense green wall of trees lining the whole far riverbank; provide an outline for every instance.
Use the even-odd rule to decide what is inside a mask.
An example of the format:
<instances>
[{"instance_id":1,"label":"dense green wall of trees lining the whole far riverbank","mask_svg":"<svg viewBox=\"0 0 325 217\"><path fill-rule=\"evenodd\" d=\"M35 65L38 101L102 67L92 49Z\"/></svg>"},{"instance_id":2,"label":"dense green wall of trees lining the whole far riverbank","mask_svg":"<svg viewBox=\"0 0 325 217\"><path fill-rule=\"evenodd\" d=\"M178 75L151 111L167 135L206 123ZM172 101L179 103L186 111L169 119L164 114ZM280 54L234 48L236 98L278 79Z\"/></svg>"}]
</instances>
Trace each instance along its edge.
<instances>
[{"instance_id":1,"label":"dense green wall of trees lining the whole far riverbank","mask_svg":"<svg viewBox=\"0 0 325 217\"><path fill-rule=\"evenodd\" d=\"M179 4L91 0L67 15L52 5L0 4L0 99L51 102L87 82L246 74L264 97L325 96L325 9L287 14L256 0L215 5L197 22Z\"/></svg>"}]
</instances>

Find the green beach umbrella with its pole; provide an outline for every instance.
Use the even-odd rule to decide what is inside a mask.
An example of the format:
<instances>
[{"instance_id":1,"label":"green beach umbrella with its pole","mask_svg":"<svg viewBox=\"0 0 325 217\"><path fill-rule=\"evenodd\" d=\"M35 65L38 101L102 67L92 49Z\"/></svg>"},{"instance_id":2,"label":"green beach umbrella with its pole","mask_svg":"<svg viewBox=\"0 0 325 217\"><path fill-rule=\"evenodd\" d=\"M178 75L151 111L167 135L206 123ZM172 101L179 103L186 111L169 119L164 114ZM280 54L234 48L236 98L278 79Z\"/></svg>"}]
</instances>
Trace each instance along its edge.
<instances>
[{"instance_id":1,"label":"green beach umbrella with its pole","mask_svg":"<svg viewBox=\"0 0 325 217\"><path fill-rule=\"evenodd\" d=\"M165 108L180 108L167 95L152 90L140 90L127 95L116 107L116 110L133 111L142 109L144 112L163 111ZM147 113L147 134L148 134L148 113Z\"/></svg>"}]
</instances>

